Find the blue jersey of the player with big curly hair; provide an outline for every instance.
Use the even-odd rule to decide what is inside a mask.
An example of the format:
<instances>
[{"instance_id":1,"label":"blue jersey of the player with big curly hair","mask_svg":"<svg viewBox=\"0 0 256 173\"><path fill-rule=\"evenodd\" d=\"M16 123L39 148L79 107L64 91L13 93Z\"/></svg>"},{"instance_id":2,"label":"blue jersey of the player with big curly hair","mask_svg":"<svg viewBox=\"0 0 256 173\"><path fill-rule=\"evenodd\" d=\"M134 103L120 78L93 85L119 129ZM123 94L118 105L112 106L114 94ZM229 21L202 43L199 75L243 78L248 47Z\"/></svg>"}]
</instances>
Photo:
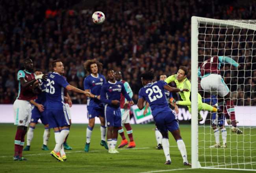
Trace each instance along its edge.
<instances>
[{"instance_id":1,"label":"blue jersey of the player with big curly hair","mask_svg":"<svg viewBox=\"0 0 256 173\"><path fill-rule=\"evenodd\" d=\"M90 89L90 92L94 95L100 95L100 90L103 84L106 83L104 75L98 74L98 77L93 75L87 76L83 81L83 89ZM87 106L104 108L103 103L96 99L87 97Z\"/></svg>"}]
</instances>

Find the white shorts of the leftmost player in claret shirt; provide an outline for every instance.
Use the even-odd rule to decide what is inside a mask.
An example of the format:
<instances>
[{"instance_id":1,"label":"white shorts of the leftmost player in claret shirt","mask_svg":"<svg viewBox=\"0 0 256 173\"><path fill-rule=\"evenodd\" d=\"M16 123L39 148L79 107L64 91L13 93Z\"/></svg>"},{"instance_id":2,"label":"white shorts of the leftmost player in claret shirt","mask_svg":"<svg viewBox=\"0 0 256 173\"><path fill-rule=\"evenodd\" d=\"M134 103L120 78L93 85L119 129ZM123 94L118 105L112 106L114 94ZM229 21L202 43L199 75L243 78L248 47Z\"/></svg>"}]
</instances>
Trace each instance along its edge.
<instances>
[{"instance_id":1,"label":"white shorts of the leftmost player in claret shirt","mask_svg":"<svg viewBox=\"0 0 256 173\"><path fill-rule=\"evenodd\" d=\"M13 104L14 125L28 127L32 115L31 111L30 100L16 99Z\"/></svg>"}]
</instances>

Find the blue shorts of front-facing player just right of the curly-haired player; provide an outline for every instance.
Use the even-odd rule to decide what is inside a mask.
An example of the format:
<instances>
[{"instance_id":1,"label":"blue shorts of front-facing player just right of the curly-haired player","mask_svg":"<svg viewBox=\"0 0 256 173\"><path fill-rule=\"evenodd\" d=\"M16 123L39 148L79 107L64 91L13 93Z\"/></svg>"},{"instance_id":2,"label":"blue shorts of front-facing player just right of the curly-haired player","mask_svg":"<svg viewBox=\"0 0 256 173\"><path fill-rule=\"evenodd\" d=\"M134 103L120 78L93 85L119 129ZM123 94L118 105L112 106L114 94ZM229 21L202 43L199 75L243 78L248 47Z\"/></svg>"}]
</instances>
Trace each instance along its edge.
<instances>
[{"instance_id":1,"label":"blue shorts of front-facing player just right of the curly-haired player","mask_svg":"<svg viewBox=\"0 0 256 173\"><path fill-rule=\"evenodd\" d=\"M121 110L110 110L108 106L105 106L105 126L114 126L121 127L122 126L122 116Z\"/></svg>"}]
</instances>

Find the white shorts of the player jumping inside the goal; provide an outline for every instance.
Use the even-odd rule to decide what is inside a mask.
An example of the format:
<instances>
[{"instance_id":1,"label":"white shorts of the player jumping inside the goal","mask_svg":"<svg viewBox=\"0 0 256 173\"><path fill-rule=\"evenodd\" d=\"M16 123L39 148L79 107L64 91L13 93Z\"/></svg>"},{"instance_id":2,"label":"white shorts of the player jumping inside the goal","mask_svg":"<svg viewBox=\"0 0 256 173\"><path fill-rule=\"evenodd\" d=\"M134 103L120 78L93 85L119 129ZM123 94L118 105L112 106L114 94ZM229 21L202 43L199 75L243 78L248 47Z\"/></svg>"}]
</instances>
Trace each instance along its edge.
<instances>
[{"instance_id":1,"label":"white shorts of the player jumping inside the goal","mask_svg":"<svg viewBox=\"0 0 256 173\"><path fill-rule=\"evenodd\" d=\"M211 74L202 78L201 87L207 93L218 95L221 97L226 96L230 92L223 78L221 78L221 75L218 74Z\"/></svg>"}]
</instances>

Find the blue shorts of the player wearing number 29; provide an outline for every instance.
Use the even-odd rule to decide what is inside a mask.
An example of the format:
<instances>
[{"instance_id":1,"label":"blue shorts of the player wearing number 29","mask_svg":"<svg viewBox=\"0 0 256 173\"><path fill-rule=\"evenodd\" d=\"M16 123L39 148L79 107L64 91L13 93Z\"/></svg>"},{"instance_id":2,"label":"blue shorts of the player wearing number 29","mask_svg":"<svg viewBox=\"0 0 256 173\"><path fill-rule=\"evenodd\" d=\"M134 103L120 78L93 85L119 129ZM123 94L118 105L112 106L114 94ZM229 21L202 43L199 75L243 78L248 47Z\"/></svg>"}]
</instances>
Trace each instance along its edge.
<instances>
[{"instance_id":1,"label":"blue shorts of the player wearing number 29","mask_svg":"<svg viewBox=\"0 0 256 173\"><path fill-rule=\"evenodd\" d=\"M173 112L159 113L154 117L155 125L161 131L174 131L179 128L179 122Z\"/></svg>"}]
</instances>

